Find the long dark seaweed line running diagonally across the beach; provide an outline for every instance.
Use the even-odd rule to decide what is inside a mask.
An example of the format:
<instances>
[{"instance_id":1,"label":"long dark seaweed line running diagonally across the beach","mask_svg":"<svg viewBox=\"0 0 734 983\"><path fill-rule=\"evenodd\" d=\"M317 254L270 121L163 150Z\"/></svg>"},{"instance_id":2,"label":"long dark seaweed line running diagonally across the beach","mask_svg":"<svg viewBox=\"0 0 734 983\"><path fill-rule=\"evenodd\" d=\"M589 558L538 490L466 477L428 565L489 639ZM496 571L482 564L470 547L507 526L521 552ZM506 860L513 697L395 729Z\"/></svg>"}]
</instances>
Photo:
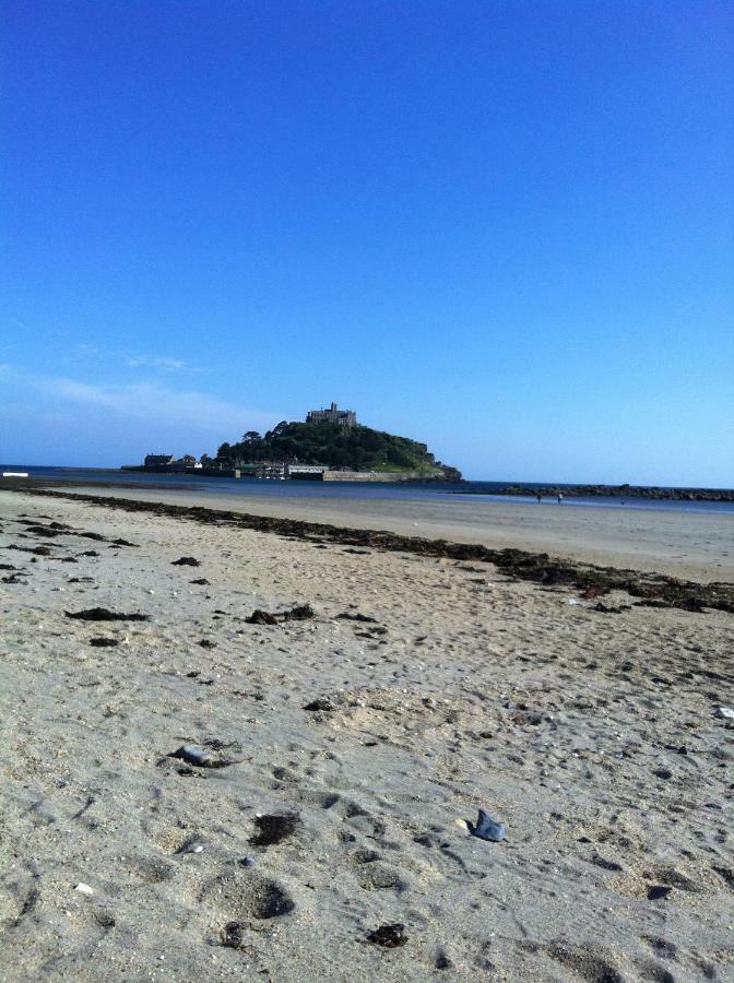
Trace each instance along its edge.
<instances>
[{"instance_id":1,"label":"long dark seaweed line running diagonally across the beach","mask_svg":"<svg viewBox=\"0 0 734 983\"><path fill-rule=\"evenodd\" d=\"M678 580L664 573L646 573L639 570L618 570L615 567L596 567L572 560L557 559L547 553L528 553L522 549L490 549L473 543L451 543L447 540L423 540L418 536L401 536L396 533L369 529L348 529L299 519L276 519L208 509L202 506L176 506L166 502L138 501L131 498L106 498L98 495L75 495L40 488L13 490L47 498L66 498L90 505L127 512L153 512L173 519L190 519L212 525L230 525L258 532L295 536L306 541L322 541L346 546L366 546L394 553L412 553L418 556L445 557L457 560L478 560L494 564L508 577L542 584L559 584L578 590L595 589L599 593L612 590L626 591L643 603L653 606L678 607L700 612L711 607L734 614L734 583L698 583ZM655 605L654 602L658 602Z\"/></svg>"}]
</instances>

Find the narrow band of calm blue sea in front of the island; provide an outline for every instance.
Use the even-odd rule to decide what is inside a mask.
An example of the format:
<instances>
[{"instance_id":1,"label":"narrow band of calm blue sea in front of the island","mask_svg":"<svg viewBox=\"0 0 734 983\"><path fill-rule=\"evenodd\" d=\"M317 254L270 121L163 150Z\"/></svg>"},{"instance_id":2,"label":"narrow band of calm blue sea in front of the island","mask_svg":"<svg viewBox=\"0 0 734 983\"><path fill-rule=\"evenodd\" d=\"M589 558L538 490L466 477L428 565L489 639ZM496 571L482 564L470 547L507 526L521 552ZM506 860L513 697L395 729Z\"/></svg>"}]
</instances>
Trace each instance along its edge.
<instances>
[{"instance_id":1,"label":"narrow band of calm blue sea in front of the island","mask_svg":"<svg viewBox=\"0 0 734 983\"><path fill-rule=\"evenodd\" d=\"M280 482L258 478L197 478L190 474L143 474L134 471L98 470L94 467L44 467L27 464L0 464L0 471L27 471L32 477L47 477L56 481L108 482L144 487L166 487L186 489L202 494L218 495L264 495L276 498L367 498L367 499L425 499L433 496L441 501L452 501L457 506L469 501L532 502L533 497L492 495L493 489L522 484L526 487L547 487L555 482L533 484L530 482L469 482L464 485L450 483L433 485L412 482L400 484L371 484L368 482ZM560 485L560 487L568 487ZM485 495L455 495L458 490L474 490ZM624 501L624 505L623 505ZM590 506L595 509L652 509L655 511L684 512L730 512L734 513L734 502L729 501L651 501L647 498L566 498L559 507L555 498L544 499L538 508L575 508Z\"/></svg>"}]
</instances>

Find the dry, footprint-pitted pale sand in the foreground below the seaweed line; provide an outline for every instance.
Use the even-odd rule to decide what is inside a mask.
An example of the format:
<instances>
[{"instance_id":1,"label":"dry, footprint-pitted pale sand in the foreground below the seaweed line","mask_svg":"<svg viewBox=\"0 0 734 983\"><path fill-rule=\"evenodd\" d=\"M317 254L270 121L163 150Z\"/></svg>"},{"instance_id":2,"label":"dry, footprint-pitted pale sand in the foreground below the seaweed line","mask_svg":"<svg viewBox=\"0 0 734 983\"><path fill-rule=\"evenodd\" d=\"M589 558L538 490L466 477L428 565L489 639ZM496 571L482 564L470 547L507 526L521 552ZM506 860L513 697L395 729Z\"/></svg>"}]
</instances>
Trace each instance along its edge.
<instances>
[{"instance_id":1,"label":"dry, footprint-pitted pale sand in the foreground below the seaweed line","mask_svg":"<svg viewBox=\"0 0 734 983\"><path fill-rule=\"evenodd\" d=\"M488 564L63 499L0 510L0 979L734 979L731 615L601 613ZM27 528L51 521L73 530ZM671 548L727 579L679 526ZM64 615L92 607L150 620ZM169 757L185 744L223 767ZM480 807L506 840L470 834ZM404 945L368 940L395 923Z\"/></svg>"}]
</instances>

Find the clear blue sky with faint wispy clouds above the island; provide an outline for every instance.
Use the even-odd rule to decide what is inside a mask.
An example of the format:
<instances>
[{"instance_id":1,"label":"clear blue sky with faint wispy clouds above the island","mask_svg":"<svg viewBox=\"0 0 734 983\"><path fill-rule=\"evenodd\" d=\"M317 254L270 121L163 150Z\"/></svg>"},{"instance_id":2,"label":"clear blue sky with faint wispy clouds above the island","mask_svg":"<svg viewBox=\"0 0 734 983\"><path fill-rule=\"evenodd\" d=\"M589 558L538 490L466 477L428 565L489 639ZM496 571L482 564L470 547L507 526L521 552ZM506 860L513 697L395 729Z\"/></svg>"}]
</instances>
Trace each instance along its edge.
<instances>
[{"instance_id":1,"label":"clear blue sky with faint wispy clouds above the island","mask_svg":"<svg viewBox=\"0 0 734 983\"><path fill-rule=\"evenodd\" d=\"M734 23L7 0L0 461L335 400L469 477L734 486Z\"/></svg>"}]
</instances>

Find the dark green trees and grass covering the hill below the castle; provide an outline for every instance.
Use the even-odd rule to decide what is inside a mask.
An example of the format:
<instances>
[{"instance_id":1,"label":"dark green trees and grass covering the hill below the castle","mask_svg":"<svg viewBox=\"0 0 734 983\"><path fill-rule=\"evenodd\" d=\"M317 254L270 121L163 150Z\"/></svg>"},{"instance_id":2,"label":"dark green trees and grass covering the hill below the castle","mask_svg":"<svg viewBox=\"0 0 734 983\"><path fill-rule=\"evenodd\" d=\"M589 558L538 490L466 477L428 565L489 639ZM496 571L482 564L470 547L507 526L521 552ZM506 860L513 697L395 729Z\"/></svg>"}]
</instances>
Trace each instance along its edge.
<instances>
[{"instance_id":1,"label":"dark green trees and grass covering the hill below the castle","mask_svg":"<svg viewBox=\"0 0 734 983\"><path fill-rule=\"evenodd\" d=\"M232 467L285 461L353 471L415 471L446 481L461 478L455 467L436 461L425 443L359 425L346 429L329 423L283 421L264 436L249 430L237 443L223 443L216 457Z\"/></svg>"}]
</instances>

